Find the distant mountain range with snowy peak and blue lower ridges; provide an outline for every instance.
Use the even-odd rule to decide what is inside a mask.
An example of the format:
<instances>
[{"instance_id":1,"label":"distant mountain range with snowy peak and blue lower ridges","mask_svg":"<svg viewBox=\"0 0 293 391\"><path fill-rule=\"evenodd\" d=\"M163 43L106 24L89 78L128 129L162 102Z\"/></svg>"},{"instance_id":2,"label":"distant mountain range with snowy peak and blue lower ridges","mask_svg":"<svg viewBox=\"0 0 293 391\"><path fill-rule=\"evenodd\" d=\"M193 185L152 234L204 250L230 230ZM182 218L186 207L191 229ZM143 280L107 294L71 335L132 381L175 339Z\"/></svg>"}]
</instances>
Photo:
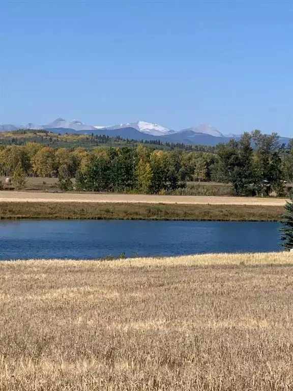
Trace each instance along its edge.
<instances>
[{"instance_id":1,"label":"distant mountain range with snowy peak and blue lower ridges","mask_svg":"<svg viewBox=\"0 0 293 391\"><path fill-rule=\"evenodd\" d=\"M45 125L28 123L26 125L5 124L0 125L0 132L13 131L17 129L45 129L56 133L69 134L105 134L109 137L121 136L123 138L140 140L160 139L162 142L184 143L215 146L219 143L226 143L231 138L238 139L240 135L224 135L216 128L208 124L191 126L190 128L174 131L159 124L137 121L119 125L93 126L84 124L78 120L67 121L64 118L57 118ZM288 142L289 138L282 137L281 143Z\"/></svg>"}]
</instances>

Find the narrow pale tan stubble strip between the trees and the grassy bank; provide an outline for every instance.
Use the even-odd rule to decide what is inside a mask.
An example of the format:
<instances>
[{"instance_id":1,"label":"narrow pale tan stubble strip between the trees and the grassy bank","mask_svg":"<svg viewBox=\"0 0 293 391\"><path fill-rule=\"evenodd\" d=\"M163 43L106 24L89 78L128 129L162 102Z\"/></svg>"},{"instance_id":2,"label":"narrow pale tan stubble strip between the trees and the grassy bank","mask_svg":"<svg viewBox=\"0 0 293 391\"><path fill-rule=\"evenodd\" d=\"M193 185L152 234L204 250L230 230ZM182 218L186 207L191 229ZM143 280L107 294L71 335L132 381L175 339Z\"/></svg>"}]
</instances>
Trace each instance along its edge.
<instances>
[{"instance_id":1,"label":"narrow pale tan stubble strip between the trees and the grassy bank","mask_svg":"<svg viewBox=\"0 0 293 391\"><path fill-rule=\"evenodd\" d=\"M284 206L286 200L278 198L217 197L206 195L92 194L0 191L0 202L94 202Z\"/></svg>"}]
</instances>

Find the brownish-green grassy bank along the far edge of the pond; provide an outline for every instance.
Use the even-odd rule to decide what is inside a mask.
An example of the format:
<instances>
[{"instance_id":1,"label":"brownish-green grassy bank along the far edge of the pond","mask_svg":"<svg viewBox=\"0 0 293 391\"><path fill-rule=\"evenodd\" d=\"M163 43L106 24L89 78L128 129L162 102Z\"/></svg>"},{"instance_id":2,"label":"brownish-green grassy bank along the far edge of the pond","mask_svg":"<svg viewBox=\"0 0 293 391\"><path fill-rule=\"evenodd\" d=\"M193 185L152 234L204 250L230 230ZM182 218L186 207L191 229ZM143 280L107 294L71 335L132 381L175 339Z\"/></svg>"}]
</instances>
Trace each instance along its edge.
<instances>
[{"instance_id":1,"label":"brownish-green grassy bank along the far edge of the pond","mask_svg":"<svg viewBox=\"0 0 293 391\"><path fill-rule=\"evenodd\" d=\"M0 218L278 221L282 206L1 202Z\"/></svg>"}]
</instances>

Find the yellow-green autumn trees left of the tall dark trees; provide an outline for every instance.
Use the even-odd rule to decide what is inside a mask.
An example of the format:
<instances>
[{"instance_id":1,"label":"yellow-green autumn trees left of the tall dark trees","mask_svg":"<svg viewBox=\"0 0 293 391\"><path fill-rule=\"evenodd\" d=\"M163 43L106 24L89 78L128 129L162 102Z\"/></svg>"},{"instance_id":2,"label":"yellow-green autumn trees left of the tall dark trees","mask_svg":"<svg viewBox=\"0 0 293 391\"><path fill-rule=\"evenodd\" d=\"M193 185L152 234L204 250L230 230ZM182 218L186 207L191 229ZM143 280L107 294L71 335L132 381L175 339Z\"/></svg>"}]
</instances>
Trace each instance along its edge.
<instances>
[{"instance_id":1,"label":"yellow-green autumn trees left of the tall dark trees","mask_svg":"<svg viewBox=\"0 0 293 391\"><path fill-rule=\"evenodd\" d=\"M63 189L159 193L183 186L186 180L210 180L212 153L137 147L51 148L38 143L0 146L0 175L53 177ZM202 163L205 170L203 170Z\"/></svg>"}]
</instances>

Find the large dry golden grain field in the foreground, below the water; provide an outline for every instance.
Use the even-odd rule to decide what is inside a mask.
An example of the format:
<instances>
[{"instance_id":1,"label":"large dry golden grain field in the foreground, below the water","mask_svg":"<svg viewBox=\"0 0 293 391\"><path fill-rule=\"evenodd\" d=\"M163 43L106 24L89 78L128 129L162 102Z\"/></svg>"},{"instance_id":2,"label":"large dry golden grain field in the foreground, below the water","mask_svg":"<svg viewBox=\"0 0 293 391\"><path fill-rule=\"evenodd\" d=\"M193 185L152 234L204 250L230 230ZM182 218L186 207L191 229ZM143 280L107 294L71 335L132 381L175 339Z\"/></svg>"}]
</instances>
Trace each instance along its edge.
<instances>
[{"instance_id":1,"label":"large dry golden grain field in the foreground, below the water","mask_svg":"<svg viewBox=\"0 0 293 391\"><path fill-rule=\"evenodd\" d=\"M1 391L293 387L290 253L0 262Z\"/></svg>"}]
</instances>

